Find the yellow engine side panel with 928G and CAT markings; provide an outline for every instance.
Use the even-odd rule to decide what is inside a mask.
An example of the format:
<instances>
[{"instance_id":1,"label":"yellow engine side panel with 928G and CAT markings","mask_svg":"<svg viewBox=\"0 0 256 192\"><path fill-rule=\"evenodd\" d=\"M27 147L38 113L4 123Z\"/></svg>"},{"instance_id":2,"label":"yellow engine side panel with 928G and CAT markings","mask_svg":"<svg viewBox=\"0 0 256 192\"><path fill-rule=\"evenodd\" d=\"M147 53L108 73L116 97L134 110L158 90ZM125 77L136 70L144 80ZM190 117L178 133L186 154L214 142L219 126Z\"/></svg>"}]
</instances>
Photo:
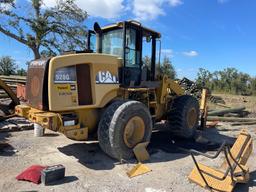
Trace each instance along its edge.
<instances>
[{"instance_id":1,"label":"yellow engine side panel with 928G and CAT markings","mask_svg":"<svg viewBox=\"0 0 256 192\"><path fill-rule=\"evenodd\" d=\"M120 65L117 57L97 53L54 57L48 75L50 111L104 107L117 97Z\"/></svg>"}]
</instances>

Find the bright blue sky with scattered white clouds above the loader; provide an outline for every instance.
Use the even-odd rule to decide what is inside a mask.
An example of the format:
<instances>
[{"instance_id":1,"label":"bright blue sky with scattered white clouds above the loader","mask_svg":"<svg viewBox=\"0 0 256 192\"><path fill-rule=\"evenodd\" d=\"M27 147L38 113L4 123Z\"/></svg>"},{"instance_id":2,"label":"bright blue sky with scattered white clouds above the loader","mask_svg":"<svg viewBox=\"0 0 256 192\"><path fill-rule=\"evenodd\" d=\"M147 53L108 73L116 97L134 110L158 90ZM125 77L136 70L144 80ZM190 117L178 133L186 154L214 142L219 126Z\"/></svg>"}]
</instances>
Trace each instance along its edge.
<instances>
[{"instance_id":1,"label":"bright blue sky with scattered white clouds above the loader","mask_svg":"<svg viewBox=\"0 0 256 192\"><path fill-rule=\"evenodd\" d=\"M21 0L17 0L21 1ZM24 0L23 0L24 1ZM171 57L179 77L194 79L198 68L235 67L256 76L254 0L77 0L89 13L86 25L139 20L162 34L162 54ZM44 0L54 6L54 0ZM33 58L20 43L0 34L0 56L19 67Z\"/></svg>"}]
</instances>

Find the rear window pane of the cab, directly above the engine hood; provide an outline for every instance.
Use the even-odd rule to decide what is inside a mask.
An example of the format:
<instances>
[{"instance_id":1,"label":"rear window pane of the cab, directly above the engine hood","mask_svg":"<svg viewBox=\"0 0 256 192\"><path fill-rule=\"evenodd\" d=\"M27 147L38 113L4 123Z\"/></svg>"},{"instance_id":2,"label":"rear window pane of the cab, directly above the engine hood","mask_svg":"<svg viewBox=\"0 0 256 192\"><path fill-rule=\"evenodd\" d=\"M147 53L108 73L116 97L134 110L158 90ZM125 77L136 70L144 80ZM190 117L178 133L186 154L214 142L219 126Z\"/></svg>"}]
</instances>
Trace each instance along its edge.
<instances>
[{"instance_id":1,"label":"rear window pane of the cab, directly above the engine hood","mask_svg":"<svg viewBox=\"0 0 256 192\"><path fill-rule=\"evenodd\" d=\"M123 57L123 29L103 33L102 53Z\"/></svg>"}]
</instances>

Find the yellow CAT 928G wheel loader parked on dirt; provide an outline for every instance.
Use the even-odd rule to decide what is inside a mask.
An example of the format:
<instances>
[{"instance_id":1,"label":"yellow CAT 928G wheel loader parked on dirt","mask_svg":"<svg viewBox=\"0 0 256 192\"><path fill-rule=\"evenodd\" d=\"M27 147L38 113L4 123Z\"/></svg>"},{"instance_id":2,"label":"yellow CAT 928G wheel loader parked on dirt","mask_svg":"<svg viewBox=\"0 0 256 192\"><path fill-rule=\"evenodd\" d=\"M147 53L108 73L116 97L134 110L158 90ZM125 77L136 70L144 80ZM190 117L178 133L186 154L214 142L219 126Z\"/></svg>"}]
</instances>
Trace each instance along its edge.
<instances>
[{"instance_id":1,"label":"yellow CAT 928G wheel loader parked on dirt","mask_svg":"<svg viewBox=\"0 0 256 192\"><path fill-rule=\"evenodd\" d=\"M156 75L160 38L136 21L95 23L85 51L30 63L27 104L18 105L16 114L73 140L97 132L102 150L119 160L149 142L161 120L172 132L192 137L199 104L177 82ZM150 62L143 62L145 55Z\"/></svg>"}]
</instances>

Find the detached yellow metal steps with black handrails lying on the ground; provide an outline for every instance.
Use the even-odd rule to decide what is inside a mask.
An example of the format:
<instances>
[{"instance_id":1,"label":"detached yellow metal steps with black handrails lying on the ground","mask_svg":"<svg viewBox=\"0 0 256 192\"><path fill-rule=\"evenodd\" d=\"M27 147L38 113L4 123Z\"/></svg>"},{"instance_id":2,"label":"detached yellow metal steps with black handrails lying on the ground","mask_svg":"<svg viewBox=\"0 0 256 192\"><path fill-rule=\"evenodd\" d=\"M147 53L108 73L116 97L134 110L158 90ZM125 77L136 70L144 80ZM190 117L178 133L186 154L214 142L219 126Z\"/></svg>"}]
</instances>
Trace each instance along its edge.
<instances>
[{"instance_id":1,"label":"detached yellow metal steps with black handrails lying on the ground","mask_svg":"<svg viewBox=\"0 0 256 192\"><path fill-rule=\"evenodd\" d=\"M243 130L231 149L224 142L214 155L191 150L190 154L195 167L188 176L189 180L210 191L233 191L236 183L247 183L249 181L249 168L246 162L252 153L252 145L251 135ZM222 151L225 154L225 160L222 166L217 169L198 163L195 159L195 155L215 159ZM223 169L225 169L225 172L223 172Z\"/></svg>"}]
</instances>

